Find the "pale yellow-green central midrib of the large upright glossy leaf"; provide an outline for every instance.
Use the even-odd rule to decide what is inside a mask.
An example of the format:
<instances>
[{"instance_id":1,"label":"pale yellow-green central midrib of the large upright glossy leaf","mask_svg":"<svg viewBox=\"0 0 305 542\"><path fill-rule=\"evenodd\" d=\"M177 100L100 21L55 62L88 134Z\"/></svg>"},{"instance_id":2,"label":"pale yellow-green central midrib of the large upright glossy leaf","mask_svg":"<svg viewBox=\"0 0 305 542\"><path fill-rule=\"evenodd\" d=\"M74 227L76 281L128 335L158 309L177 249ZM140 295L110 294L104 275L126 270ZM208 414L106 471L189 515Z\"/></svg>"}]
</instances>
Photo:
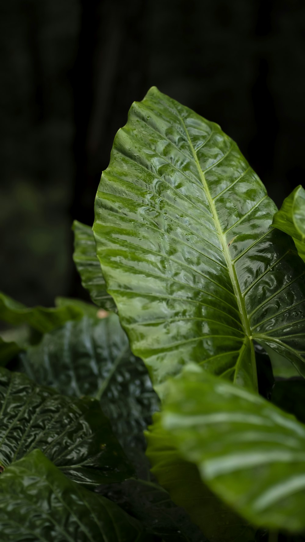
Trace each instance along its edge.
<instances>
[{"instance_id":1,"label":"pale yellow-green central midrib of the large upright glossy leaf","mask_svg":"<svg viewBox=\"0 0 305 542\"><path fill-rule=\"evenodd\" d=\"M187 131L185 122L183 120L183 117L181 117L181 115L180 115L180 113L179 113L179 111L177 109L176 109L176 111L177 111L178 117L180 118L181 123L183 125L184 131L185 131L185 134L186 134L186 137L187 137L187 141L189 142L189 146L190 146L194 161L196 163L196 167L197 167L197 170L198 170L198 173L199 173L199 177L200 177L202 185L203 185L203 187L205 189L207 201L209 202L210 209L212 211L213 220L214 220L214 223L215 223L216 229L217 229L217 234L218 234L220 243L222 244L222 247L223 247L224 258L225 258L225 261L226 261L226 264L227 264L227 267L228 267L229 276L230 276L232 286L233 286L233 289L234 289L234 293L235 293L235 296L236 296L236 299L237 299L237 305L238 305L238 308L239 308L239 314L240 314L240 317L241 317L241 322L242 322L242 326L243 326L243 329L244 329L245 338L248 337L248 339L250 340L252 376L253 376L254 387L257 390L258 389L258 382L257 382L257 372L256 372L254 345L253 345L253 341L251 340L252 338L251 338L250 324L249 324L249 320L248 320L248 315L246 313L246 308L245 308L245 303L244 303L244 299L243 299L243 296L242 296L241 288L239 286L239 282L238 282L238 279L237 279L235 267L233 266L231 256L230 256L230 253L229 253L229 249L228 249L228 246L226 244L226 240L224 238L224 233L223 233L222 227L221 227L219 219L218 219L217 210L216 210L215 204L213 202L213 199L211 197L211 193L210 193L209 187L207 185L204 172L202 171L202 168L200 167L199 160L198 160L198 157L197 157L197 153L196 153L196 151L195 151L195 149L193 147L193 144L192 144L189 132ZM232 149L232 145L230 147L230 151L231 151L231 149ZM229 154L229 152L226 153L225 156L227 156ZM212 167L214 167L215 165L216 164L213 164L213 166L211 166L209 169L212 169ZM245 345L246 344L244 343L243 346L242 346L242 349L245 348ZM241 354L242 354L242 349L241 349ZM241 354L240 354L240 356L241 356ZM236 373L237 373L236 369L237 369L237 367L235 368L234 381L236 380Z\"/></svg>"}]
</instances>

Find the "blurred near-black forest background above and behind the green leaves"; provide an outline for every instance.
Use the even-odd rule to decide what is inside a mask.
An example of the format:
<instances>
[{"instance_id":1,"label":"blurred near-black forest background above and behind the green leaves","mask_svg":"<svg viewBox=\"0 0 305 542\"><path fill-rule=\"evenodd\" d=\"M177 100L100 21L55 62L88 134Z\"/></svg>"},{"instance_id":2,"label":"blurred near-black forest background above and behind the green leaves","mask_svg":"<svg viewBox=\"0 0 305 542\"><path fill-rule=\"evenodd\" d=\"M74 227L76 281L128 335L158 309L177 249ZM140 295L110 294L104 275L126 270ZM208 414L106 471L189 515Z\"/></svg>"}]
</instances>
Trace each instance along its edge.
<instances>
[{"instance_id":1,"label":"blurred near-black forest background above and behind the green leaves","mask_svg":"<svg viewBox=\"0 0 305 542\"><path fill-rule=\"evenodd\" d=\"M235 139L277 205L304 184L304 0L1 0L0 289L82 296L73 218L157 85Z\"/></svg>"}]
</instances>

